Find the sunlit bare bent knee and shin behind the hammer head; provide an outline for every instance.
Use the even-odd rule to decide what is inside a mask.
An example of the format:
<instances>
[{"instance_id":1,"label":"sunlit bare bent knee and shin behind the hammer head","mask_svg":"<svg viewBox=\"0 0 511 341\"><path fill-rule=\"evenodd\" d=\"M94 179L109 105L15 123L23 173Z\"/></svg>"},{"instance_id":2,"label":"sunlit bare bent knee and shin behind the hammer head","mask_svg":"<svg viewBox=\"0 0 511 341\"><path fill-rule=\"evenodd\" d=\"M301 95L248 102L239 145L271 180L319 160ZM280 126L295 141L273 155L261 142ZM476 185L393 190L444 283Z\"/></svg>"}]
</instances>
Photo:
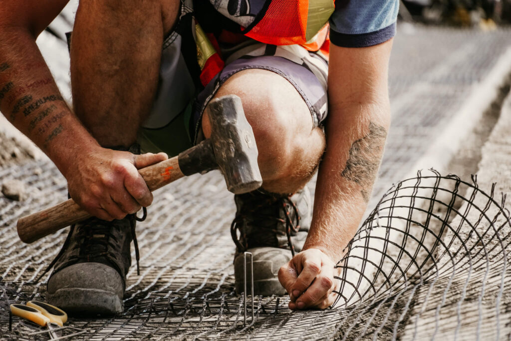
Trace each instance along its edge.
<instances>
[{"instance_id":1,"label":"sunlit bare bent knee and shin behind the hammer head","mask_svg":"<svg viewBox=\"0 0 511 341\"><path fill-rule=\"evenodd\" d=\"M230 77L215 98L241 98L259 150L263 188L293 193L307 184L319 164L325 146L324 133L313 128L310 110L293 85L267 70L249 69ZM211 134L204 115L202 129Z\"/></svg>"}]
</instances>

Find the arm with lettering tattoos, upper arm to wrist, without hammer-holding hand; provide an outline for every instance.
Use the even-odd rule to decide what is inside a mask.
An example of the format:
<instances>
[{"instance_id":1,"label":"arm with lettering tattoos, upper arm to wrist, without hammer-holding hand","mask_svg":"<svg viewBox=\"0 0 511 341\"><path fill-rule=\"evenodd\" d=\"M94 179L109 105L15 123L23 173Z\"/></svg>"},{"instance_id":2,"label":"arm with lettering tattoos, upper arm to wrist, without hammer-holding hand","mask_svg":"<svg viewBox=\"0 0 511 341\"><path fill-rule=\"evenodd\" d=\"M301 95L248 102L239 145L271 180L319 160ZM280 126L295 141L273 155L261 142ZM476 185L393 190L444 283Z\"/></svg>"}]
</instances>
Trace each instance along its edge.
<instances>
[{"instance_id":1,"label":"arm with lettering tattoos, upper arm to wrist, without hammer-holding hand","mask_svg":"<svg viewBox=\"0 0 511 341\"><path fill-rule=\"evenodd\" d=\"M0 6L0 110L62 172L79 145L95 143L60 95L35 42L67 1L3 0Z\"/></svg>"}]
</instances>

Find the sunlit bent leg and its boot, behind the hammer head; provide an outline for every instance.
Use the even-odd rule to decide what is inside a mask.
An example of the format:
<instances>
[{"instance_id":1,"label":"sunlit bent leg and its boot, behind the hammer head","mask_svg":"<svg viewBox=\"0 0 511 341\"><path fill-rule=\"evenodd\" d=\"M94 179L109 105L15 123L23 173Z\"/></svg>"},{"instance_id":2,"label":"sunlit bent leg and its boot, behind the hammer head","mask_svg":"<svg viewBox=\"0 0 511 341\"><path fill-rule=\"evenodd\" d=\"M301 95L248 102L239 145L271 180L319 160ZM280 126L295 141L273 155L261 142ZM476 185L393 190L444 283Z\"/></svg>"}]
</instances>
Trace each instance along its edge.
<instances>
[{"instance_id":1,"label":"sunlit bent leg and its boot, behind the hammer head","mask_svg":"<svg viewBox=\"0 0 511 341\"><path fill-rule=\"evenodd\" d=\"M254 293L284 294L277 279L278 268L291 259L287 247L300 251L310 225L312 204L308 189L301 189L314 174L325 139L302 96L309 95L309 102L318 100L321 91L319 95L310 89L304 93L301 88L299 93L298 87L317 86L318 82L305 67L296 70L297 66L289 63L280 66L287 77L300 78L299 84L293 85L289 78L272 71L248 69L228 78L214 96L234 94L241 98L258 145L258 163L266 190L235 195L237 213L231 234L237 245L234 266L238 292L243 290L243 252L248 251L253 255ZM207 116L201 123L207 138L211 132Z\"/></svg>"}]
</instances>

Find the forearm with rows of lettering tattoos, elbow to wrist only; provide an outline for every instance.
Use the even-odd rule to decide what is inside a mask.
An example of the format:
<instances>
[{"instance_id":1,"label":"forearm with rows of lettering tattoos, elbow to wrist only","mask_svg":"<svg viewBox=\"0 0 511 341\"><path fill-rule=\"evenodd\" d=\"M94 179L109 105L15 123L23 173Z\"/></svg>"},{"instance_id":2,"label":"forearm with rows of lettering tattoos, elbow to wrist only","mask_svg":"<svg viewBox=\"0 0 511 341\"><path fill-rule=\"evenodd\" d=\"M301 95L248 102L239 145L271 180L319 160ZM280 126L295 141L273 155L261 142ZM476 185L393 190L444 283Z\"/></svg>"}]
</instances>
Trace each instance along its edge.
<instances>
[{"instance_id":1,"label":"forearm with rows of lettering tattoos, elbow to wrist only","mask_svg":"<svg viewBox=\"0 0 511 341\"><path fill-rule=\"evenodd\" d=\"M73 115L27 30L2 28L0 111L63 171L69 158L97 143Z\"/></svg>"}]
</instances>

